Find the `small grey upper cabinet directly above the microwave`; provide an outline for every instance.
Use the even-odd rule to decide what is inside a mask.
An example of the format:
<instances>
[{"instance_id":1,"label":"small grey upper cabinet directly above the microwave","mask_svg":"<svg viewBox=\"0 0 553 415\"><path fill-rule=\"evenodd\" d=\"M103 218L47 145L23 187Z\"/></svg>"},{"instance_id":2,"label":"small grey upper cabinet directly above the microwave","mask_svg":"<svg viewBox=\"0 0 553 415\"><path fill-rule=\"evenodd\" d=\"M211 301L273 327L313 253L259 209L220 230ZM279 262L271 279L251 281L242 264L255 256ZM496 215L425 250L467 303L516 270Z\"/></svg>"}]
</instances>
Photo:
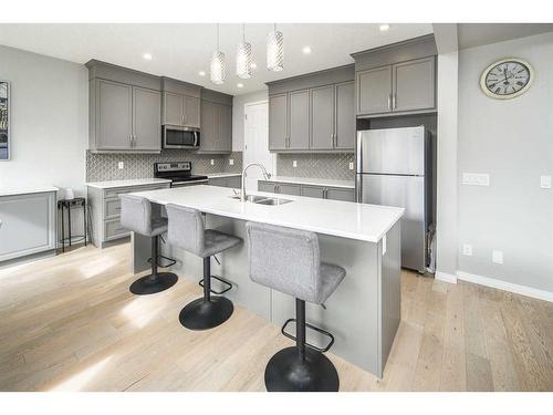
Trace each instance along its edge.
<instances>
[{"instance_id":1,"label":"small grey upper cabinet directly above the microwave","mask_svg":"<svg viewBox=\"0 0 553 415\"><path fill-rule=\"evenodd\" d=\"M200 127L201 86L161 77L161 123Z\"/></svg>"}]
</instances>

